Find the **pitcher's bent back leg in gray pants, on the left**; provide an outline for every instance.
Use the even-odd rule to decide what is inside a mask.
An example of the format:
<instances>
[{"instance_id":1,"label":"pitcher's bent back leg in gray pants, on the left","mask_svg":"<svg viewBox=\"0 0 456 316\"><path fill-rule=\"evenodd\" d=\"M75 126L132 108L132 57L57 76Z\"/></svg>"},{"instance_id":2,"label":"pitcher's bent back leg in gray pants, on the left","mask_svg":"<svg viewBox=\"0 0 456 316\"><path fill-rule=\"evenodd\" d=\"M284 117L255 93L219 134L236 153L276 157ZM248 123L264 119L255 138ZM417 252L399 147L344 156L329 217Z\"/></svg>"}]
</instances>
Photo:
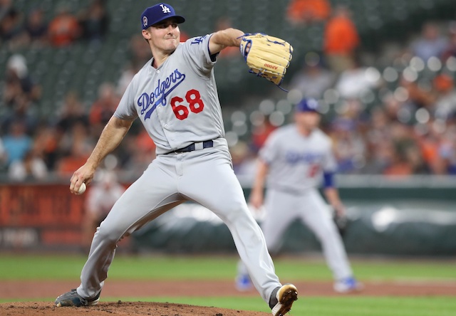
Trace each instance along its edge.
<instances>
[{"instance_id":1,"label":"pitcher's bent back leg in gray pants, on the left","mask_svg":"<svg viewBox=\"0 0 456 316\"><path fill-rule=\"evenodd\" d=\"M120 238L182 203L175 187L174 180L165 176L159 168L149 167L125 191L93 237L88 260L81 273L81 285L77 289L79 295L91 298L100 293Z\"/></svg>"}]
</instances>

